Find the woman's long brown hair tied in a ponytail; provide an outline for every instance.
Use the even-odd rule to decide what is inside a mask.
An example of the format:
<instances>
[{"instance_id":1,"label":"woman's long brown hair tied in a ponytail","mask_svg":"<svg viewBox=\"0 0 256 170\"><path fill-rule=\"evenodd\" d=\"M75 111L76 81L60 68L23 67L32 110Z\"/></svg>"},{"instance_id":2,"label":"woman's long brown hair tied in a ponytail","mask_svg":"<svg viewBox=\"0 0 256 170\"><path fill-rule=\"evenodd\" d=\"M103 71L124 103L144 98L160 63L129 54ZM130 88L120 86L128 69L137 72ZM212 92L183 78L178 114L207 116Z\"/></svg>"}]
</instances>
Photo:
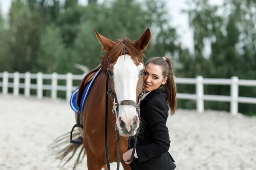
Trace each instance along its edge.
<instances>
[{"instance_id":1,"label":"woman's long brown hair tied in a ponytail","mask_svg":"<svg viewBox=\"0 0 256 170\"><path fill-rule=\"evenodd\" d=\"M164 85L161 85L160 88L162 88L168 95L168 104L171 109L171 115L173 115L177 108L177 98L176 84L174 80L174 73L172 70L172 60L167 57L152 57L148 59L145 66L150 63L154 65L159 65L163 70L163 78L167 77L166 83Z\"/></svg>"}]
</instances>

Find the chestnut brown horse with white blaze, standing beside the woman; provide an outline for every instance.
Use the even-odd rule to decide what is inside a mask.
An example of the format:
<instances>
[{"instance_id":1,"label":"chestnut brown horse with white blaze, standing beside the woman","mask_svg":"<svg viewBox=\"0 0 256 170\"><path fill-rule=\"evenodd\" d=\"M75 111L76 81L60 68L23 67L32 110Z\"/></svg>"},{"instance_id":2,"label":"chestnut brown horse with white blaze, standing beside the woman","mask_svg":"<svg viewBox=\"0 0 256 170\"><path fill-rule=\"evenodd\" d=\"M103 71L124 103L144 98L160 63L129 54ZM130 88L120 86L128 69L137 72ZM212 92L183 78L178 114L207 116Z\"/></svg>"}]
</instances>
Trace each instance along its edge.
<instances>
[{"instance_id":1,"label":"chestnut brown horse with white blaze, standing beside the woman","mask_svg":"<svg viewBox=\"0 0 256 170\"><path fill-rule=\"evenodd\" d=\"M106 51L105 56L101 58L98 68L88 73L79 85L78 96L81 96L83 89L90 81L93 73L101 68L101 72L93 82L92 88L84 103L83 126L80 134L83 138L83 145L87 155L88 170L101 170L106 168L105 155L105 94L106 81L109 74L109 84L111 93L116 103L123 100L132 100L136 103L143 88L143 50L148 45L151 32L147 29L144 34L136 41L132 42L127 38L113 42L100 35L96 30L95 34L102 45L102 50ZM108 61L108 67L107 67ZM128 164L125 164L122 155L127 151L127 136L134 136L140 125L140 119L136 108L132 105L119 105L117 116L112 114L113 102L108 96L108 152L109 161L117 162L117 142L115 126L117 125L119 134L119 154L120 162L125 170L130 170ZM81 138L81 137L80 137ZM60 142L60 140L58 140ZM56 145L55 145L56 146ZM64 150L61 150L59 158L63 159L70 152L76 151L79 144L70 144ZM82 148L83 149L83 148ZM79 154L79 157L82 153ZM85 154L85 152L84 152ZM73 156L73 155L72 155ZM71 156L71 157L72 157ZM68 159L69 161L70 159ZM79 163L79 158L76 164ZM76 167L75 164L75 167Z\"/></svg>"}]
</instances>

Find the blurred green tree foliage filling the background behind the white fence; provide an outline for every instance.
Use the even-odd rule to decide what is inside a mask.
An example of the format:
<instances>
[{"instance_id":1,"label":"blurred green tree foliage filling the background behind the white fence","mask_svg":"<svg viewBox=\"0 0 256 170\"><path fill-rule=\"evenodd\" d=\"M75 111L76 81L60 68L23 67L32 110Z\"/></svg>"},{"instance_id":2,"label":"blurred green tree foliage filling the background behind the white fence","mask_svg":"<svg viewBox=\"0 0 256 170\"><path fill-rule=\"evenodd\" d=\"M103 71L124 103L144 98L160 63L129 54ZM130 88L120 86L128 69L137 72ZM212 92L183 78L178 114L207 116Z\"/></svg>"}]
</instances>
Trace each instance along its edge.
<instances>
[{"instance_id":1,"label":"blurred green tree foliage filling the background behind the white fence","mask_svg":"<svg viewBox=\"0 0 256 170\"><path fill-rule=\"evenodd\" d=\"M78 2L13 0L6 19L0 17L0 72L82 74L74 67L76 63L92 69L104 54L93 29L112 40L137 40L150 28L152 37L144 53L147 58L173 56L176 77L256 77L254 0L225 0L223 6L210 5L208 0L188 1L189 8L183 12L189 15L193 30L193 54L181 48L163 1L111 0L98 4L89 0L87 6ZM195 93L195 85L177 85L177 91ZM230 96L230 86L205 85L204 93ZM239 96L255 95L255 88L239 88ZM195 101L179 100L178 106L195 108ZM230 107L227 102L205 102L205 106L215 110ZM255 113L255 109L239 104L241 113Z\"/></svg>"}]
</instances>

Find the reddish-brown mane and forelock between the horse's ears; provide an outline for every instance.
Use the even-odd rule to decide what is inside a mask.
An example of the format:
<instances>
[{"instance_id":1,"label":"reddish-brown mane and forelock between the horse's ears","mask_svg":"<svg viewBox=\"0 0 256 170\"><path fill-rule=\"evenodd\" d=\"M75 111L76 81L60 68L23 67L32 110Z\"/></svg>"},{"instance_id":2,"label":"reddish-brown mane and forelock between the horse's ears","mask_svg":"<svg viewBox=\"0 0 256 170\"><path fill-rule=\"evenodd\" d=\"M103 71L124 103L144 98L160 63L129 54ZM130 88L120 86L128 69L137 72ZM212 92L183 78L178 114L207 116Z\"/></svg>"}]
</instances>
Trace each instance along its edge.
<instances>
[{"instance_id":1,"label":"reddish-brown mane and forelock between the horse's ears","mask_svg":"<svg viewBox=\"0 0 256 170\"><path fill-rule=\"evenodd\" d=\"M138 59L138 62L143 62L143 58L145 58L145 54L141 50L139 50L134 42L124 38L122 40L116 41L116 46L111 49L111 51L107 51L104 56L100 58L100 65L102 67L102 71L106 71L106 62L109 57L109 62L113 63L117 60L117 58L121 55L125 54L125 51L129 52L131 59Z\"/></svg>"}]
</instances>

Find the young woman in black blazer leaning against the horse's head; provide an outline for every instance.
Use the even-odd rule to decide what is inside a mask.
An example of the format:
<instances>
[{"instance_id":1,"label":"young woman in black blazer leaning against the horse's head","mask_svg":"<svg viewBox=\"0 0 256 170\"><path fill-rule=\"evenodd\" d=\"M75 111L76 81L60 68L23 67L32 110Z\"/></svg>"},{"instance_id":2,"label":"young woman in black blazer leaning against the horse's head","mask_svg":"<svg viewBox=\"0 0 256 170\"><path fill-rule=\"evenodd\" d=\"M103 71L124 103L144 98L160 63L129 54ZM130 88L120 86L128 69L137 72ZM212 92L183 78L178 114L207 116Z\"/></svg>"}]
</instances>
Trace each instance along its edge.
<instances>
[{"instance_id":1,"label":"young woman in black blazer leaning against the horse's head","mask_svg":"<svg viewBox=\"0 0 256 170\"><path fill-rule=\"evenodd\" d=\"M123 159L131 159L135 149L131 170L175 170L175 161L168 152L169 132L166 126L169 108L171 115L176 109L176 86L172 71L172 60L165 57L148 59L145 65L145 94L140 103L141 133L137 136L137 147L131 139L131 148ZM169 106L169 107L168 107Z\"/></svg>"}]
</instances>

